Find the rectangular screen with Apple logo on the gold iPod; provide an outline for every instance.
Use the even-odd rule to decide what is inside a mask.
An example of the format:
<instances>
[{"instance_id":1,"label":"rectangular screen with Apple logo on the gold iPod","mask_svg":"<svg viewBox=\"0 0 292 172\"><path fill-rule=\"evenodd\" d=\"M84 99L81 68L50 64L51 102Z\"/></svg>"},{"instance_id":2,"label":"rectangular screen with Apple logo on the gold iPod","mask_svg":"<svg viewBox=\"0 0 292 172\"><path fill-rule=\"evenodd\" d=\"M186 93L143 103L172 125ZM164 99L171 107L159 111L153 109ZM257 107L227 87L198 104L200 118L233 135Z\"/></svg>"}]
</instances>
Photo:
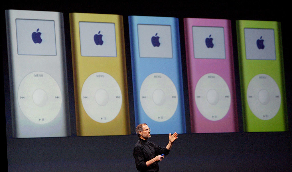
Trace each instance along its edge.
<instances>
[{"instance_id":1,"label":"rectangular screen with Apple logo on the gold iPod","mask_svg":"<svg viewBox=\"0 0 292 172\"><path fill-rule=\"evenodd\" d=\"M117 57L114 23L79 22L81 56Z\"/></svg>"}]
</instances>

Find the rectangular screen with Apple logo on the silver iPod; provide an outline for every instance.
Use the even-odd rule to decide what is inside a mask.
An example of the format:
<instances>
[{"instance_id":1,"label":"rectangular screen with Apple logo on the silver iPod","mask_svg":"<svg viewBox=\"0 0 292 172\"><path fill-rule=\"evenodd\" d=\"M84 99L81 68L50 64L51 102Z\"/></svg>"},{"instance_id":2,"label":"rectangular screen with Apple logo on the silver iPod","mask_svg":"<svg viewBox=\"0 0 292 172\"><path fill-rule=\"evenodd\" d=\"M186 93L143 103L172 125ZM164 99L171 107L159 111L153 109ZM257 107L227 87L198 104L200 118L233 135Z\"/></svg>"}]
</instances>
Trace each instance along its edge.
<instances>
[{"instance_id":1,"label":"rectangular screen with Apple logo on the silver iPod","mask_svg":"<svg viewBox=\"0 0 292 172\"><path fill-rule=\"evenodd\" d=\"M54 20L16 19L18 55L57 55Z\"/></svg>"}]
</instances>

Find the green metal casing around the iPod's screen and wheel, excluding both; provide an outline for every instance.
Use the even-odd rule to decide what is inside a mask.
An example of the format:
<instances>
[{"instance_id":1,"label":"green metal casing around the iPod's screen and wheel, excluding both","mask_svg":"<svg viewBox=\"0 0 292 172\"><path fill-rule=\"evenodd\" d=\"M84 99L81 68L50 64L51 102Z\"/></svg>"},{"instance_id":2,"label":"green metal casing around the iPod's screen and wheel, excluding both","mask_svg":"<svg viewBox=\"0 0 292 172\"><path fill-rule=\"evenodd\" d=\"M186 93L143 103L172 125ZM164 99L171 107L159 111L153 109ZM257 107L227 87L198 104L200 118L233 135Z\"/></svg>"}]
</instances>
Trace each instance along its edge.
<instances>
[{"instance_id":1,"label":"green metal casing around the iPod's screen and wheel, excluding both","mask_svg":"<svg viewBox=\"0 0 292 172\"><path fill-rule=\"evenodd\" d=\"M244 131L246 132L269 132L269 131L287 131L288 119L286 110L286 91L283 64L283 50L281 37L281 23L276 21L255 21L255 20L237 20L237 44L239 58L239 72L241 85L241 102L244 122ZM245 28L273 29L275 60L248 60L246 59L245 46ZM281 104L277 114L268 120L259 119L251 111L248 105L247 88L251 79L258 74L266 74L272 77L279 87L281 95ZM269 114L267 114L269 115Z\"/></svg>"}]
</instances>

